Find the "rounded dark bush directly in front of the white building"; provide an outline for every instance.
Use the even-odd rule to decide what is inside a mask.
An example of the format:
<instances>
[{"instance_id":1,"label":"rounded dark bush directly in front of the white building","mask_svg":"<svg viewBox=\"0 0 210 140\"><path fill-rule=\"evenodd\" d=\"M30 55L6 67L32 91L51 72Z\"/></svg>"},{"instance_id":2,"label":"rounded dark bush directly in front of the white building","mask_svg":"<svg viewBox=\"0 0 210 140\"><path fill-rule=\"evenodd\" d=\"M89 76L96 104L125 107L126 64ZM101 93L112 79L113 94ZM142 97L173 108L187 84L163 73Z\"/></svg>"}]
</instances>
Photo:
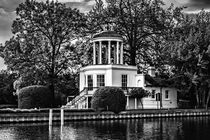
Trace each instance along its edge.
<instances>
[{"instance_id":1,"label":"rounded dark bush directly in front of the white building","mask_svg":"<svg viewBox=\"0 0 210 140\"><path fill-rule=\"evenodd\" d=\"M119 113L125 110L126 97L120 88L102 87L93 94L91 107L96 111L108 110Z\"/></svg>"}]
</instances>

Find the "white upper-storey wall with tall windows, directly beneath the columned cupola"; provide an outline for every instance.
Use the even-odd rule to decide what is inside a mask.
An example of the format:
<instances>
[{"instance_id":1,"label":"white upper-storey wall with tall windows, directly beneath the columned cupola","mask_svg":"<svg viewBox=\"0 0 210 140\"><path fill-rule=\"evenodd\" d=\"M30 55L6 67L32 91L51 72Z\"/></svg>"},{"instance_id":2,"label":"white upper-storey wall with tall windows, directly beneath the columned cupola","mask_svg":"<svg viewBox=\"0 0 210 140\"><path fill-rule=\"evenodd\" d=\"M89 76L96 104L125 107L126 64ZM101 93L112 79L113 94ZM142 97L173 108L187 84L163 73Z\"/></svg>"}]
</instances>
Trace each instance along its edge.
<instances>
[{"instance_id":1,"label":"white upper-storey wall with tall windows, directly beneath the columned cupola","mask_svg":"<svg viewBox=\"0 0 210 140\"><path fill-rule=\"evenodd\" d=\"M97 87L97 75L105 75L105 86L121 87L121 75L128 75L128 87L136 87L137 68L127 65L91 65L80 71L80 91L87 87L87 75L93 75L93 87ZM86 78L85 78L86 77ZM85 81L86 80L86 81Z\"/></svg>"}]
</instances>

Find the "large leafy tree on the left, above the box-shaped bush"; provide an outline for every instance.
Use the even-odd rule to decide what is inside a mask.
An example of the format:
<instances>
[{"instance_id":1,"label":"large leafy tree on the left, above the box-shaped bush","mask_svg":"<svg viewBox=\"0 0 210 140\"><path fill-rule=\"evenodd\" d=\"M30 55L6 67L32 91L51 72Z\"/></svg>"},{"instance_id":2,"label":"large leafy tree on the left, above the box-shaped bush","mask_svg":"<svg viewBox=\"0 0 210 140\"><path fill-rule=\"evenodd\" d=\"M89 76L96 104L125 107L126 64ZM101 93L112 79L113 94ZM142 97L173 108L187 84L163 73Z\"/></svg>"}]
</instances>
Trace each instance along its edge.
<instances>
[{"instance_id":1,"label":"large leafy tree on the left, above the box-shaped bush","mask_svg":"<svg viewBox=\"0 0 210 140\"><path fill-rule=\"evenodd\" d=\"M47 79L54 94L57 76L77 63L71 41L86 26L85 16L77 9L50 0L26 0L16 13L18 18L12 25L15 37L1 49L5 63L21 76L38 77L35 83Z\"/></svg>"}]
</instances>

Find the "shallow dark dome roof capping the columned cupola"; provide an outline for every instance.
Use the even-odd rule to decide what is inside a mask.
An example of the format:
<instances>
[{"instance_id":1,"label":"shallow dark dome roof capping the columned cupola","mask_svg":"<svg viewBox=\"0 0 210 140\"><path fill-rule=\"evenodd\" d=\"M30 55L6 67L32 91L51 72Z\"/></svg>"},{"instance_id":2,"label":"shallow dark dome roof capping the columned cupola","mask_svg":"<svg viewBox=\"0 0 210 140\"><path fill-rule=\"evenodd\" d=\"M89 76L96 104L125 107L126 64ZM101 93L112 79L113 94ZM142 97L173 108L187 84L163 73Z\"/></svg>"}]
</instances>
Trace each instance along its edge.
<instances>
[{"instance_id":1,"label":"shallow dark dome roof capping the columned cupola","mask_svg":"<svg viewBox=\"0 0 210 140\"><path fill-rule=\"evenodd\" d=\"M109 38L109 37L116 37L116 38L120 38L122 39L122 36L118 33L116 33L115 31L103 31L103 32L100 32L98 34L95 34L93 36L93 38L101 38L101 37L106 37L106 38Z\"/></svg>"}]
</instances>

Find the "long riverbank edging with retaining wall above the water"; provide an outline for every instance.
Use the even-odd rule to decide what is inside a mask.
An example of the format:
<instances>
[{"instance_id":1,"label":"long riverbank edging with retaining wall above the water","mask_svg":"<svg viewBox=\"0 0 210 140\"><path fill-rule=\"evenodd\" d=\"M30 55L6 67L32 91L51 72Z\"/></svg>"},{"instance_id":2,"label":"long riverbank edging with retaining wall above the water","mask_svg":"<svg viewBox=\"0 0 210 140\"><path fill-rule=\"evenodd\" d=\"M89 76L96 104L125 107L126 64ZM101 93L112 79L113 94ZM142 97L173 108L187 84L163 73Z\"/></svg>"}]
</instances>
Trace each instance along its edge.
<instances>
[{"instance_id":1,"label":"long riverbank edging with retaining wall above the water","mask_svg":"<svg viewBox=\"0 0 210 140\"><path fill-rule=\"evenodd\" d=\"M63 110L63 117L62 111ZM34 123L49 122L50 109L3 109L0 110L0 123ZM164 109L164 110L126 110L119 114L113 112L94 112L93 110L52 109L52 122L86 121L86 120L118 120L169 117L210 116L205 109Z\"/></svg>"}]
</instances>

